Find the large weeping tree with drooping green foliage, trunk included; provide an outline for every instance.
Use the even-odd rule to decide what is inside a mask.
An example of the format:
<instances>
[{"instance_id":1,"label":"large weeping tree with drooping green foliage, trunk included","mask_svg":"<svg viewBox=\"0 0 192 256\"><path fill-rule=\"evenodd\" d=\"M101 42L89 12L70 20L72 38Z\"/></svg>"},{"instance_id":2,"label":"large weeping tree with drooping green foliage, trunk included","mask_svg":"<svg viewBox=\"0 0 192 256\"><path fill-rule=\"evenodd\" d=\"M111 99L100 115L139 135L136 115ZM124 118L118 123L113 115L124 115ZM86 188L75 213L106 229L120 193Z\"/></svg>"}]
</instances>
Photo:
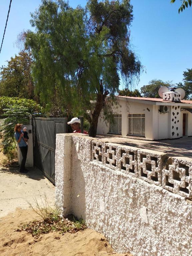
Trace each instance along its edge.
<instances>
[{"instance_id":1,"label":"large weeping tree with drooping green foliage, trunk included","mask_svg":"<svg viewBox=\"0 0 192 256\"><path fill-rule=\"evenodd\" d=\"M90 136L96 136L102 109L107 118L105 99L115 98L120 76L127 86L139 78L142 66L129 43L132 20L129 0L89 0L75 9L63 0L43 0L32 14L36 31L27 33L26 45L35 88L49 102L56 84L68 108L89 121Z\"/></svg>"}]
</instances>

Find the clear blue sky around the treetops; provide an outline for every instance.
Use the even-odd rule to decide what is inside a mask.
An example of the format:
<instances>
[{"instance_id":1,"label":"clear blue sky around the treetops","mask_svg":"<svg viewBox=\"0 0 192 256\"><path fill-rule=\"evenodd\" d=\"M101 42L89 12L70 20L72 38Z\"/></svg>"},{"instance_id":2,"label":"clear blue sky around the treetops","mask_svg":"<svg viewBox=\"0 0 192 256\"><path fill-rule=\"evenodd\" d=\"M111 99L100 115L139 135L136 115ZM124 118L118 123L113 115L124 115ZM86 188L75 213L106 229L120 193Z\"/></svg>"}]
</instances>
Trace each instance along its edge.
<instances>
[{"instance_id":1,"label":"clear blue sky around the treetops","mask_svg":"<svg viewBox=\"0 0 192 256\"><path fill-rule=\"evenodd\" d=\"M5 27L9 0L0 1L0 41ZM30 12L39 6L41 0L12 0L4 43L0 54L0 66L19 52L14 43L17 35L30 29ZM138 88L152 79L183 79L183 71L192 68L192 7L178 14L180 1L132 0L134 21L131 30L131 44L145 66L146 74L140 77ZM69 0L72 7L85 6L85 0ZM136 87L137 88L137 87Z\"/></svg>"}]
</instances>

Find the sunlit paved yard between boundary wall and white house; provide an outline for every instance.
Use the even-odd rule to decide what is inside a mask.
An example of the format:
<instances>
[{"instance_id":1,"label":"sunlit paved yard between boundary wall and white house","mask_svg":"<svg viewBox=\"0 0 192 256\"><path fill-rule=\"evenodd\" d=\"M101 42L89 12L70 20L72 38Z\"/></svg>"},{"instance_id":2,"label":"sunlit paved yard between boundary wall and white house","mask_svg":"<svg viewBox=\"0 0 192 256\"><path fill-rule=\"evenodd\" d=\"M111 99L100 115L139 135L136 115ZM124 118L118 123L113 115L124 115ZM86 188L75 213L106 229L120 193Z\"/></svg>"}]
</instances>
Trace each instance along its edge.
<instances>
[{"instance_id":1,"label":"sunlit paved yard between boundary wall and white house","mask_svg":"<svg viewBox=\"0 0 192 256\"><path fill-rule=\"evenodd\" d=\"M114 136L97 135L98 139L112 143L120 143L123 145L152 149L156 151L162 151L169 156L184 156L192 158L192 137L185 137L175 140L158 140L150 141L144 139L135 138L120 138Z\"/></svg>"}]
</instances>

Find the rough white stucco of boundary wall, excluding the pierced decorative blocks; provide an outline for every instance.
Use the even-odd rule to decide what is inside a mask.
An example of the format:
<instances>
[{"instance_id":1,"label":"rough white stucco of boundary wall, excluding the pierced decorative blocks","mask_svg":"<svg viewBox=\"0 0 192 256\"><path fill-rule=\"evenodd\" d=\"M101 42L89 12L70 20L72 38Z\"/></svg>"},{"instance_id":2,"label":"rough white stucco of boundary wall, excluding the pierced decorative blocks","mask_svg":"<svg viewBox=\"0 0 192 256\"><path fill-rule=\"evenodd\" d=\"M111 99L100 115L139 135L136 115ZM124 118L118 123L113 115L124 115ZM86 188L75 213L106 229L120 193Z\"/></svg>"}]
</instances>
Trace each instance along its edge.
<instances>
[{"instance_id":1,"label":"rough white stucco of boundary wall, excluding the pierced decorative blocks","mask_svg":"<svg viewBox=\"0 0 192 256\"><path fill-rule=\"evenodd\" d=\"M192 255L191 201L113 170L103 162L92 161L93 138L66 136L57 135L56 195L63 200L57 202L58 206L63 209L66 204L67 213L83 217L88 227L103 233L117 252L130 251L136 256ZM65 140L68 152L64 153ZM99 144L97 148L100 152ZM61 162L70 168L62 169ZM67 196L65 186L70 188Z\"/></svg>"}]
</instances>

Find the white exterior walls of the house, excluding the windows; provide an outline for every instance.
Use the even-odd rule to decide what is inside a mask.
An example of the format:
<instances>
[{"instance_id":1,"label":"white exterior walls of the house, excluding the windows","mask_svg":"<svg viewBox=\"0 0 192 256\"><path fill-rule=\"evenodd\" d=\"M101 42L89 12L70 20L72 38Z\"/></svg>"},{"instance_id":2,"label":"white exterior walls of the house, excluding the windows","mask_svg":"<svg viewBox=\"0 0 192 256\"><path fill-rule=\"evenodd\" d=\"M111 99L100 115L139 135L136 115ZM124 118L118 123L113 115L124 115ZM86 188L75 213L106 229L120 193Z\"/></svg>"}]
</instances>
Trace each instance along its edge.
<instances>
[{"instance_id":1,"label":"white exterior walls of the house, excluding the windows","mask_svg":"<svg viewBox=\"0 0 192 256\"><path fill-rule=\"evenodd\" d=\"M134 136L128 135L128 114L141 113L145 114L145 138L147 140L180 138L183 136L183 113L186 113L188 114L188 136L192 136L192 113L181 111L181 106L179 108L176 105L170 106L168 113L160 113L159 105L129 102L129 99L119 100L119 105L118 109L114 108L114 114L122 115L122 135L109 134L109 125L103 121L102 113L98 120L97 134L124 138Z\"/></svg>"}]
</instances>

